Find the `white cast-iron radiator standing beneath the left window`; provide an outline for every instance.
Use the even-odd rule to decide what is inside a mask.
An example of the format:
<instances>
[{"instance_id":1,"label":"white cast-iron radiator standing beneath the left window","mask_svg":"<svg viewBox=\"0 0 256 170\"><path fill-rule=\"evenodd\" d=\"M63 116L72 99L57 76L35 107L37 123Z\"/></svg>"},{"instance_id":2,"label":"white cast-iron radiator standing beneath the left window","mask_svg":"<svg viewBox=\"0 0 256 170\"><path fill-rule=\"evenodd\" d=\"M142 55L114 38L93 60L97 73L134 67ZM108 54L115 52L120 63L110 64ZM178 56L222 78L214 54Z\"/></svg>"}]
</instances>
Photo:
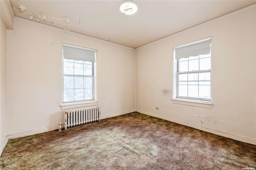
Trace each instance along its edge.
<instances>
[{"instance_id":1,"label":"white cast-iron radiator standing beneath the left window","mask_svg":"<svg viewBox=\"0 0 256 170\"><path fill-rule=\"evenodd\" d=\"M65 130L67 127L100 121L100 106L88 106L65 110Z\"/></svg>"}]
</instances>

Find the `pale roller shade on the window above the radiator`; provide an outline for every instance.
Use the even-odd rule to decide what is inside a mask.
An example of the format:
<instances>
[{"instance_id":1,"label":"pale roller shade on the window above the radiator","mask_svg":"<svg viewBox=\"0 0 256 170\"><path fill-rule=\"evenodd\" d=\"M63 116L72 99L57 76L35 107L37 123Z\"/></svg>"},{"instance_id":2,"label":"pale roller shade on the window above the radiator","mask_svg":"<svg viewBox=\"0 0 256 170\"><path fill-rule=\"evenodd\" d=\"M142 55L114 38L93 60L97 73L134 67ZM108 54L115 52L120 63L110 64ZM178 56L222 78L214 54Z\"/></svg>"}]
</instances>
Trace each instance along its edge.
<instances>
[{"instance_id":1,"label":"pale roller shade on the window above the radiator","mask_svg":"<svg viewBox=\"0 0 256 170\"><path fill-rule=\"evenodd\" d=\"M63 57L67 60L95 62L95 51L64 45Z\"/></svg>"}]
</instances>

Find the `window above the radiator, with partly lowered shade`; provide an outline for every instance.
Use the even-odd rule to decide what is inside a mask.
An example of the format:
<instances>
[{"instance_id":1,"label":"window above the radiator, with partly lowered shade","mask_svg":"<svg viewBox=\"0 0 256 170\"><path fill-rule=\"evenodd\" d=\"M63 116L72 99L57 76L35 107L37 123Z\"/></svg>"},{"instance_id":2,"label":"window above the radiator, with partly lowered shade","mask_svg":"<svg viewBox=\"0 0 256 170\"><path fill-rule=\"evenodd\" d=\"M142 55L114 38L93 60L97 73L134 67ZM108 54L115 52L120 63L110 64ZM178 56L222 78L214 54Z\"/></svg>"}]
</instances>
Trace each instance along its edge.
<instances>
[{"instance_id":1,"label":"window above the radiator, with partly lowered shade","mask_svg":"<svg viewBox=\"0 0 256 170\"><path fill-rule=\"evenodd\" d=\"M62 103L95 100L95 50L63 45Z\"/></svg>"}]
</instances>

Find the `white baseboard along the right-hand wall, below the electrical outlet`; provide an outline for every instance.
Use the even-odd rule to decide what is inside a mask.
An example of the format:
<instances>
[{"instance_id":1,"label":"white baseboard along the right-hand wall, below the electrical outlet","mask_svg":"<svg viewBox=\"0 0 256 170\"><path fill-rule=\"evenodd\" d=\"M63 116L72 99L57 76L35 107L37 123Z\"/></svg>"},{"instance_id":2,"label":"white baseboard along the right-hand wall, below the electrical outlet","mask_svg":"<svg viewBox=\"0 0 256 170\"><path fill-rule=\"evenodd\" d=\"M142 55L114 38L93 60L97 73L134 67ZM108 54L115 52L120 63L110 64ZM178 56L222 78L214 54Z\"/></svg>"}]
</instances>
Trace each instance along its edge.
<instances>
[{"instance_id":1,"label":"white baseboard along the right-hand wall, below the electrical outlet","mask_svg":"<svg viewBox=\"0 0 256 170\"><path fill-rule=\"evenodd\" d=\"M229 134L229 133L214 130L214 129L211 129L211 128L206 128L206 127L190 124L190 123L187 123L187 122L182 122L180 120L175 120L175 119L172 119L172 118L168 118L166 116L160 116L158 114L146 112L146 111L143 111L143 110L136 110L136 112L146 114L146 115L149 115L149 116L153 116L153 117L156 117L156 118L161 118L161 119L164 119L164 120L168 120L170 122L182 124L182 125L189 126L189 127L192 127L192 128L196 128L196 129L199 129L199 130L202 130L202 131L205 131L205 132L209 132L209 133L212 133L212 134L216 134L216 135L219 135L219 136L224 136L226 138L231 138L231 139L238 140L238 141L241 141L241 142L246 142L246 143L249 143L249 144L256 145L256 140L253 140L253 139L250 139L250 138L245 138L245 137L242 137L242 136Z\"/></svg>"}]
</instances>

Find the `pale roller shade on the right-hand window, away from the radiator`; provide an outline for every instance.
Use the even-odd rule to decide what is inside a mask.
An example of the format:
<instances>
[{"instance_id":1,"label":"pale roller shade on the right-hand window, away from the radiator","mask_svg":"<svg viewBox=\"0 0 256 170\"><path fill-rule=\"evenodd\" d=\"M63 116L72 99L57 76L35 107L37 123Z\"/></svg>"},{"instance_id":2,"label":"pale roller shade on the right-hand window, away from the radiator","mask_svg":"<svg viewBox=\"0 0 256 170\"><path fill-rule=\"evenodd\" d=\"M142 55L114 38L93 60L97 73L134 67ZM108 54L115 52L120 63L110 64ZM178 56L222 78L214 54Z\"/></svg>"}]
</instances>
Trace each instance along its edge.
<instances>
[{"instance_id":1,"label":"pale roller shade on the right-hand window, away from the radiator","mask_svg":"<svg viewBox=\"0 0 256 170\"><path fill-rule=\"evenodd\" d=\"M187 46L175 48L175 58L188 58L190 56L198 56L200 54L209 54L211 51L211 40L205 40Z\"/></svg>"}]
</instances>

